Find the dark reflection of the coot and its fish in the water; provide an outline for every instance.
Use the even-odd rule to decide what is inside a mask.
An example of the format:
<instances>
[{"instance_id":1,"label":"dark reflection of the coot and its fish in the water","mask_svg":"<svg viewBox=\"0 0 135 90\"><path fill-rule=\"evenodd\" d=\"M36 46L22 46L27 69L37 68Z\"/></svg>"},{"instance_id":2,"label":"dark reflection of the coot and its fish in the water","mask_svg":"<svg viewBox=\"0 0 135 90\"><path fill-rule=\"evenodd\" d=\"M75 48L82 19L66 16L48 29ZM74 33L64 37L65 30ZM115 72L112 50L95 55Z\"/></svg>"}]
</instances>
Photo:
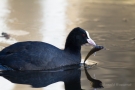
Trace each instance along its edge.
<instances>
[{"instance_id":1,"label":"dark reflection of the coot and its fish in the water","mask_svg":"<svg viewBox=\"0 0 135 90\"><path fill-rule=\"evenodd\" d=\"M93 84L93 88L101 88L102 82L93 79L87 69L85 73ZM66 71L3 71L0 74L12 83L27 84L34 88L46 87L50 84L63 81L65 83L65 90L82 90L81 89L81 70L78 66Z\"/></svg>"}]
</instances>

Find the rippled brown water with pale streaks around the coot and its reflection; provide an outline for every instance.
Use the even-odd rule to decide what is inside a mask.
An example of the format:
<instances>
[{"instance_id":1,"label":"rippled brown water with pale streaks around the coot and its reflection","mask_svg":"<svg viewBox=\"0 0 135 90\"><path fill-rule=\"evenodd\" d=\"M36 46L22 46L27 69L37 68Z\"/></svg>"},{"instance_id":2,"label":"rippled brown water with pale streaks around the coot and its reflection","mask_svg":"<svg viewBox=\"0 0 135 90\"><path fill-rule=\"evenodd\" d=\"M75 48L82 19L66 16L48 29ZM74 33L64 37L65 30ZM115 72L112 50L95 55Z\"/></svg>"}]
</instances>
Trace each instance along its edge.
<instances>
[{"instance_id":1,"label":"rippled brown water with pale streaks around the coot and its reflection","mask_svg":"<svg viewBox=\"0 0 135 90\"><path fill-rule=\"evenodd\" d=\"M104 88L101 89L134 90L135 0L0 0L0 33L10 35L9 39L0 37L1 49L26 40L44 41L64 48L66 36L77 26L87 30L98 45L106 48L86 62L97 63L88 73L102 81ZM90 46L82 47L82 61L90 49ZM84 69L73 73L81 73L80 82L75 82L80 83L82 89L94 90ZM31 88L0 77L0 90L65 90L64 86L62 79L47 87Z\"/></svg>"}]
</instances>

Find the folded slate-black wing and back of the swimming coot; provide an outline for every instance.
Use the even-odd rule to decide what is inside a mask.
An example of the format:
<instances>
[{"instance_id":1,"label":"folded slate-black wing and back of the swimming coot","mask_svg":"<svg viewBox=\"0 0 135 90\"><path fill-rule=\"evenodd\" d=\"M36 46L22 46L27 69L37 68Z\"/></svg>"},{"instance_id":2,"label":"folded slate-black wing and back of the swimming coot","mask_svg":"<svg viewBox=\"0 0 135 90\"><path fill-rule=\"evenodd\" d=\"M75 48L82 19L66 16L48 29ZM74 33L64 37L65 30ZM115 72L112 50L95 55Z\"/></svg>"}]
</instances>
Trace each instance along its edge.
<instances>
[{"instance_id":1,"label":"folded slate-black wing and back of the swimming coot","mask_svg":"<svg viewBox=\"0 0 135 90\"><path fill-rule=\"evenodd\" d=\"M11 68L47 68L48 62L54 60L59 51L58 48L42 42L20 42L0 52L0 63Z\"/></svg>"}]
</instances>

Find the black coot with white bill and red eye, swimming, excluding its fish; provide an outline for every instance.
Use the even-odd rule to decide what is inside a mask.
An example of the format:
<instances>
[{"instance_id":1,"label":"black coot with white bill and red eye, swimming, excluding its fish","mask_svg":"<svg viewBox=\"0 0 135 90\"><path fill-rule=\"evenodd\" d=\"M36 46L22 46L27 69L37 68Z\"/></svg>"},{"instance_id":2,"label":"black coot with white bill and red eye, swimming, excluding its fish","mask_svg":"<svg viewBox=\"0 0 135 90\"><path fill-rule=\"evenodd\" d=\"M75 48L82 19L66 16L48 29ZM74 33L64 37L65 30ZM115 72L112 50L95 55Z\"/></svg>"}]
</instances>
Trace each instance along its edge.
<instances>
[{"instance_id":1,"label":"black coot with white bill and red eye, swimming, excluding its fish","mask_svg":"<svg viewBox=\"0 0 135 90\"><path fill-rule=\"evenodd\" d=\"M50 70L80 64L81 45L96 46L89 33L80 27L68 35L64 50L40 41L18 42L0 52L0 64L12 70Z\"/></svg>"}]
</instances>

